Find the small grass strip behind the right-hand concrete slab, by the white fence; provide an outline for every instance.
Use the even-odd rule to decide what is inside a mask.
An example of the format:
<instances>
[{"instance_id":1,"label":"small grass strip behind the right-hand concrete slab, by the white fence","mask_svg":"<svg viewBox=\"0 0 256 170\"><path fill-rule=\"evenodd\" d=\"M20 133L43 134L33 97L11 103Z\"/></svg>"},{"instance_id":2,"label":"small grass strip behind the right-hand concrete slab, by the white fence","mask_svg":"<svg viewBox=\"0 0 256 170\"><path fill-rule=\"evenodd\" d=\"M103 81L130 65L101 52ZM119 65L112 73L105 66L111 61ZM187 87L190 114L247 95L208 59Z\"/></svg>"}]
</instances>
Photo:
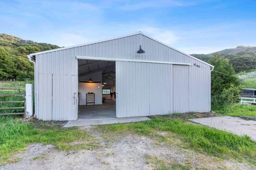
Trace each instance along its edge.
<instances>
[{"instance_id":1,"label":"small grass strip behind the right-hand concrete slab, by the white fence","mask_svg":"<svg viewBox=\"0 0 256 170\"><path fill-rule=\"evenodd\" d=\"M213 111L225 116L256 116L256 105L234 104L213 108Z\"/></svg>"}]
</instances>

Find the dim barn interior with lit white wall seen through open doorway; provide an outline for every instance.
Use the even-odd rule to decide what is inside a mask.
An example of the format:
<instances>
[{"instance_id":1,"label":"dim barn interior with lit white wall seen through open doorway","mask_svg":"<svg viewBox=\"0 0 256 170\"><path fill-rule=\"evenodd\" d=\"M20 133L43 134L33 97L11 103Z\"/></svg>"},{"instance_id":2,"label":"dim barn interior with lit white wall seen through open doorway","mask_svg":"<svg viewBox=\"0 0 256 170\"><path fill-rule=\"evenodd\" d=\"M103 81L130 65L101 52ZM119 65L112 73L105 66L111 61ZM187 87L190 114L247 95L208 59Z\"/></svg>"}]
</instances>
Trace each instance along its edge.
<instances>
[{"instance_id":1,"label":"dim barn interior with lit white wall seen through open doorway","mask_svg":"<svg viewBox=\"0 0 256 170\"><path fill-rule=\"evenodd\" d=\"M78 60L78 120L116 117L115 62Z\"/></svg>"}]
</instances>

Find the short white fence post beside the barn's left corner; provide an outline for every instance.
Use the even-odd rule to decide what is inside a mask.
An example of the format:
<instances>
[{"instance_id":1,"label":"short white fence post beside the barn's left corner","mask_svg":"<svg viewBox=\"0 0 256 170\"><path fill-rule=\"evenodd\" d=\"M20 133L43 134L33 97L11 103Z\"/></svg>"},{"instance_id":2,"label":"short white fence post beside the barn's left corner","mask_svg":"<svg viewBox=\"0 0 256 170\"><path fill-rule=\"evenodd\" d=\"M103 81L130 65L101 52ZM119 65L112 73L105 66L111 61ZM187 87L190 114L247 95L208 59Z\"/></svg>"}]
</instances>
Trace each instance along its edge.
<instances>
[{"instance_id":1,"label":"short white fence post beside the barn's left corner","mask_svg":"<svg viewBox=\"0 0 256 170\"><path fill-rule=\"evenodd\" d=\"M26 84L26 117L33 116L33 87Z\"/></svg>"}]
</instances>

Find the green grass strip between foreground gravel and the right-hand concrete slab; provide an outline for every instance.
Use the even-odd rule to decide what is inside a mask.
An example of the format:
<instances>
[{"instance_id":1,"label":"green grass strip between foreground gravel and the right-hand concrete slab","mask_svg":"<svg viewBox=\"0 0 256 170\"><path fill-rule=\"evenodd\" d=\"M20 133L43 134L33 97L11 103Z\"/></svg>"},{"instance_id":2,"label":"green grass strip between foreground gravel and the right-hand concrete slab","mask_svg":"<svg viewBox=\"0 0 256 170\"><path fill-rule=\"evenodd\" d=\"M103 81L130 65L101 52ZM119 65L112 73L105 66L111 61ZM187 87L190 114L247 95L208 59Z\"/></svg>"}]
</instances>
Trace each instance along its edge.
<instances>
[{"instance_id":1,"label":"green grass strip between foreground gravel and the right-hand concrete slab","mask_svg":"<svg viewBox=\"0 0 256 170\"><path fill-rule=\"evenodd\" d=\"M156 131L172 132L194 150L220 158L245 159L256 165L256 142L252 141L250 137L239 137L226 131L216 130L184 120L158 117L146 122L101 125L99 128L111 133L132 131L149 136L159 136ZM162 135L161 140L167 142L170 137Z\"/></svg>"}]
</instances>

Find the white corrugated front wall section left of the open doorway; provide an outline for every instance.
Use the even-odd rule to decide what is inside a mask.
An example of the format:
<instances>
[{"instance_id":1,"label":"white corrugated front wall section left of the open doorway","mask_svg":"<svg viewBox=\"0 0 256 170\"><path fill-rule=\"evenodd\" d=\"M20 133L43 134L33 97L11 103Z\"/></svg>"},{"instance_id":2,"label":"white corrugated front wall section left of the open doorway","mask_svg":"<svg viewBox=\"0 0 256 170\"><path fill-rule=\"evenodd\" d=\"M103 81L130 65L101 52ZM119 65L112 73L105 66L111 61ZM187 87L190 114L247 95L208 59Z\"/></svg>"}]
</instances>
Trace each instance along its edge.
<instances>
[{"instance_id":1,"label":"white corrugated front wall section left of the open doorway","mask_svg":"<svg viewBox=\"0 0 256 170\"><path fill-rule=\"evenodd\" d=\"M77 120L77 60L75 49L36 57L36 118Z\"/></svg>"}]
</instances>

